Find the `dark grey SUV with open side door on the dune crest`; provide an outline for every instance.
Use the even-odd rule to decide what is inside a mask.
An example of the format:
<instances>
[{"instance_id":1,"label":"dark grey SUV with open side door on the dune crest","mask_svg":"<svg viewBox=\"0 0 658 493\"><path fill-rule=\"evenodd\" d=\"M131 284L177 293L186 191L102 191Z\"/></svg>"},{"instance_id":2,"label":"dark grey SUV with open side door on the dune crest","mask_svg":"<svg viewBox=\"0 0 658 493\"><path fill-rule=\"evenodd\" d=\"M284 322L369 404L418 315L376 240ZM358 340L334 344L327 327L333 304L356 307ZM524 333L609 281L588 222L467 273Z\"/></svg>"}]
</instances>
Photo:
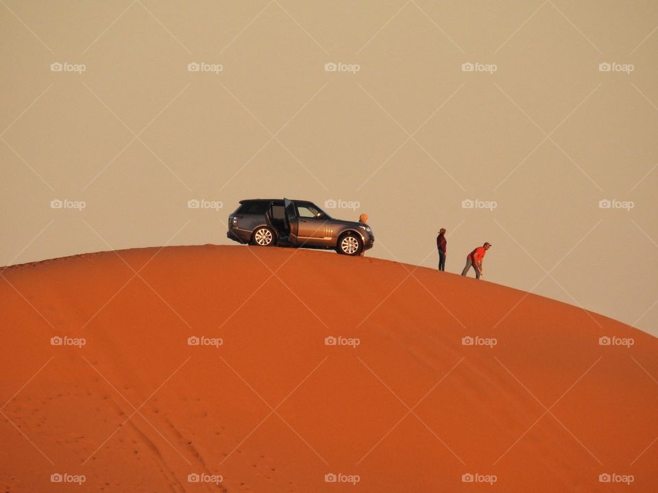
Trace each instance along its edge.
<instances>
[{"instance_id":1,"label":"dark grey SUV with open side door on the dune crest","mask_svg":"<svg viewBox=\"0 0 658 493\"><path fill-rule=\"evenodd\" d=\"M240 201L228 216L226 236L260 247L331 249L353 256L375 242L367 224L334 219L313 202L289 199Z\"/></svg>"}]
</instances>

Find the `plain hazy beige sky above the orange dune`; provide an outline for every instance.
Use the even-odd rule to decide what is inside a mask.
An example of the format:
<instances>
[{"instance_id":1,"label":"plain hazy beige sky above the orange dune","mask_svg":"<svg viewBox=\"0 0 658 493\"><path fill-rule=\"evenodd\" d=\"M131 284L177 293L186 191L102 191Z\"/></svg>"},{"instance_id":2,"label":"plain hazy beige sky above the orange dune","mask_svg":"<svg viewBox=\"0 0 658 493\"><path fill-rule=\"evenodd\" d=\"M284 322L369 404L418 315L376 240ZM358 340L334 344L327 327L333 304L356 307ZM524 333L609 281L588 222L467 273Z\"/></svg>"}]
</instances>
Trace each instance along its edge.
<instances>
[{"instance_id":1,"label":"plain hazy beige sky above the orange dune","mask_svg":"<svg viewBox=\"0 0 658 493\"><path fill-rule=\"evenodd\" d=\"M240 199L334 200L369 214L367 255L433 267L446 227L449 272L489 241L489 281L658 335L657 24L639 1L4 0L0 264L231 244Z\"/></svg>"}]
</instances>

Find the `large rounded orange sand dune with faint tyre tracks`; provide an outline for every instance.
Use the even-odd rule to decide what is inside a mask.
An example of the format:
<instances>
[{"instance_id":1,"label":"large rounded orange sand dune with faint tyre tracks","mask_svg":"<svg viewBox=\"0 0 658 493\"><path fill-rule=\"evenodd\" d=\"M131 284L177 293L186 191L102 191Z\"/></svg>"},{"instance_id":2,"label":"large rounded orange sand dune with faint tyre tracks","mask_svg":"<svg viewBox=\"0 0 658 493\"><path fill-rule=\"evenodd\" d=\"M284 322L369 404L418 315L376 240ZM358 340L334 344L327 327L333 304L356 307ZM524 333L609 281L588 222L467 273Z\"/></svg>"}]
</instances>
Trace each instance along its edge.
<instances>
[{"instance_id":1,"label":"large rounded orange sand dune with faint tyre tracks","mask_svg":"<svg viewBox=\"0 0 658 493\"><path fill-rule=\"evenodd\" d=\"M3 492L658 491L658 341L579 307L293 249L2 276Z\"/></svg>"}]
</instances>

